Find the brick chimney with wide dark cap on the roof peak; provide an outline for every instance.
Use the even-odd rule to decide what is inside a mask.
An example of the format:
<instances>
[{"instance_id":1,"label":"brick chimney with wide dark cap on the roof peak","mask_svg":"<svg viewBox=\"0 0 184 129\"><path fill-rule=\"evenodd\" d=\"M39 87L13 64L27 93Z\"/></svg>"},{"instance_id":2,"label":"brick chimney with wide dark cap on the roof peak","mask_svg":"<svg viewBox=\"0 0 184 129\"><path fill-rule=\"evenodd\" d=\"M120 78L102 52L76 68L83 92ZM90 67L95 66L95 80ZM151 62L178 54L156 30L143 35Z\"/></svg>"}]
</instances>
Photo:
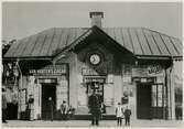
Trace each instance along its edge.
<instances>
[{"instance_id":1,"label":"brick chimney with wide dark cap on the roof peak","mask_svg":"<svg viewBox=\"0 0 184 129\"><path fill-rule=\"evenodd\" d=\"M101 28L101 19L104 18L104 12L89 12L89 17L91 19L91 26L97 25Z\"/></svg>"}]
</instances>

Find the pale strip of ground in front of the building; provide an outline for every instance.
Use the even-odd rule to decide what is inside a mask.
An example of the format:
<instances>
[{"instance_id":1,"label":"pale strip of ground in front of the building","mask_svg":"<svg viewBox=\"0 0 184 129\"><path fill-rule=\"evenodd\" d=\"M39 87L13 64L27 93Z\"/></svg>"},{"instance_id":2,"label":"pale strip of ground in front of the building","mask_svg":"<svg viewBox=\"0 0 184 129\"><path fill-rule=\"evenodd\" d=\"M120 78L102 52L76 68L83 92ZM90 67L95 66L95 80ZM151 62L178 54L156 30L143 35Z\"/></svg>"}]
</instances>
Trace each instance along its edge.
<instances>
[{"instance_id":1,"label":"pale strip of ground in front of the building","mask_svg":"<svg viewBox=\"0 0 184 129\"><path fill-rule=\"evenodd\" d=\"M132 120L130 127L170 127L182 128L182 120ZM67 120L67 121L23 121L8 120L8 123L2 123L2 127L91 127L89 120ZM99 127L117 127L116 120L101 120Z\"/></svg>"}]
</instances>

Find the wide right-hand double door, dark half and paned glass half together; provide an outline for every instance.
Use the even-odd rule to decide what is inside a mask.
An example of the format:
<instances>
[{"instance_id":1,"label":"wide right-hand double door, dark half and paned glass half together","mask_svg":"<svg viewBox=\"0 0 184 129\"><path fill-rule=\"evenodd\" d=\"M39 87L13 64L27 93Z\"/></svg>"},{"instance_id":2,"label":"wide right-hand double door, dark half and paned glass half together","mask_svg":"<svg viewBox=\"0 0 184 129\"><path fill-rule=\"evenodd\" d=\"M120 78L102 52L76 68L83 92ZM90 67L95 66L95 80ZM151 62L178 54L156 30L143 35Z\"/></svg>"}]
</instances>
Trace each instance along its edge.
<instances>
[{"instance_id":1,"label":"wide right-hand double door, dark half and paned glass half together","mask_svg":"<svg viewBox=\"0 0 184 129\"><path fill-rule=\"evenodd\" d=\"M137 116L139 119L166 118L166 92L163 84L138 84Z\"/></svg>"}]
</instances>

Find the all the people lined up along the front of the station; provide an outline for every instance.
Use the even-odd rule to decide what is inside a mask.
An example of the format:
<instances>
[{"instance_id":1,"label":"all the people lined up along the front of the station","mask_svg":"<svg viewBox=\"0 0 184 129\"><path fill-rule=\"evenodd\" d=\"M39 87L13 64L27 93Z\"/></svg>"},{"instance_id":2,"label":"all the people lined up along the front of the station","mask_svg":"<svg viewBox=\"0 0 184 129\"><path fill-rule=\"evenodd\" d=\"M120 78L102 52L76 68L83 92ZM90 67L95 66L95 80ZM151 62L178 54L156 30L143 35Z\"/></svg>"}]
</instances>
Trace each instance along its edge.
<instances>
[{"instance_id":1,"label":"all the people lined up along the front of the station","mask_svg":"<svg viewBox=\"0 0 184 129\"><path fill-rule=\"evenodd\" d=\"M7 122L6 120L6 111L7 111L7 100L6 100L6 96L4 96L4 89L2 88L2 122ZM53 120L53 103L52 103L52 98L48 98L48 100L51 101L51 120ZM29 112L30 112L30 120L33 120L32 117L32 104L33 104L34 99L32 96L30 96L29 98ZM98 94L96 93L96 90L94 90L94 93L89 96L89 100L88 100L88 108L89 108L89 112L91 114L91 125L93 126L99 126L99 119L101 118L101 114L106 112L106 108L102 104L102 101L100 100ZM62 119L66 120L68 118L71 118L74 115L75 109L72 106L67 106L67 103L65 100L63 100L62 105L61 105L61 115L62 115ZM120 103L118 103L118 107L116 108L116 117L117 117L117 125L121 126L122 125L122 119L125 118L125 125L126 126L130 126L130 116L131 116L131 110L129 109L128 106L126 106L126 108L123 106L121 106Z\"/></svg>"}]
</instances>

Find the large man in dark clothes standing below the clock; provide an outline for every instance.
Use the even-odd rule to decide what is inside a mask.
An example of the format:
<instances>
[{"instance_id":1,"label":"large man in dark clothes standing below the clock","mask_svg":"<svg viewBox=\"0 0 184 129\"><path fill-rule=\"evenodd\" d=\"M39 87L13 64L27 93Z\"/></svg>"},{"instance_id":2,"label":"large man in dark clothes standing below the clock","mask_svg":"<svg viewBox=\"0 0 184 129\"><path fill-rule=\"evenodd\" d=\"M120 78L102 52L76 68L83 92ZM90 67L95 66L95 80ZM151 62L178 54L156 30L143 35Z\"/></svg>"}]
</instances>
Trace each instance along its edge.
<instances>
[{"instance_id":1,"label":"large man in dark clothes standing below the clock","mask_svg":"<svg viewBox=\"0 0 184 129\"><path fill-rule=\"evenodd\" d=\"M93 94L89 96L88 100L88 107L89 107L89 112L91 114L91 125L99 125L99 118L100 118L100 100L98 95L96 94L96 90L94 89Z\"/></svg>"}]
</instances>

